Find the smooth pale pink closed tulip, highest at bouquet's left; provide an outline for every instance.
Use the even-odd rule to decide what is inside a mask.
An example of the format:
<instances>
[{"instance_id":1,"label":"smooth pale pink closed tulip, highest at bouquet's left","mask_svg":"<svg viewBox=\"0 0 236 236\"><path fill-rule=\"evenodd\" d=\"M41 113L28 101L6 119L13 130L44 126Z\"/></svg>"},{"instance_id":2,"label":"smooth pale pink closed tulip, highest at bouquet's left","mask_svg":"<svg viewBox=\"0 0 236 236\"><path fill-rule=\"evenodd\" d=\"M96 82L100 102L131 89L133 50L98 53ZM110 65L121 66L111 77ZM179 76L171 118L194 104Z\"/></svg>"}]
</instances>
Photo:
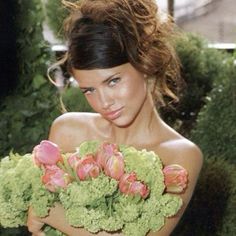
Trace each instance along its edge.
<instances>
[{"instance_id":1,"label":"smooth pale pink closed tulip, highest at bouquet's left","mask_svg":"<svg viewBox=\"0 0 236 236\"><path fill-rule=\"evenodd\" d=\"M34 147L33 159L36 165L55 165L62 160L60 150L55 143L43 140L39 145Z\"/></svg>"}]
</instances>

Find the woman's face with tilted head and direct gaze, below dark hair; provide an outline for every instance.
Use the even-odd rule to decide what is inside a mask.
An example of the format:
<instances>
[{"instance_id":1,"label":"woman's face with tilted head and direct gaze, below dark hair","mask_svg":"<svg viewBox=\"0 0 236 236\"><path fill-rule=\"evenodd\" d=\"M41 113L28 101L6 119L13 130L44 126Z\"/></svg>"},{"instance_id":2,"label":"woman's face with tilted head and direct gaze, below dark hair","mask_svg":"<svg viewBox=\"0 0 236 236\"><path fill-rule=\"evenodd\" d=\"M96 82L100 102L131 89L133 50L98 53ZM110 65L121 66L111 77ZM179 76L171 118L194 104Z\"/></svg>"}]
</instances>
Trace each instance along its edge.
<instances>
[{"instance_id":1,"label":"woman's face with tilted head and direct gaze, below dark hair","mask_svg":"<svg viewBox=\"0 0 236 236\"><path fill-rule=\"evenodd\" d=\"M73 76L90 106L120 127L132 123L146 99L144 75L130 63L109 69L75 69Z\"/></svg>"}]
</instances>

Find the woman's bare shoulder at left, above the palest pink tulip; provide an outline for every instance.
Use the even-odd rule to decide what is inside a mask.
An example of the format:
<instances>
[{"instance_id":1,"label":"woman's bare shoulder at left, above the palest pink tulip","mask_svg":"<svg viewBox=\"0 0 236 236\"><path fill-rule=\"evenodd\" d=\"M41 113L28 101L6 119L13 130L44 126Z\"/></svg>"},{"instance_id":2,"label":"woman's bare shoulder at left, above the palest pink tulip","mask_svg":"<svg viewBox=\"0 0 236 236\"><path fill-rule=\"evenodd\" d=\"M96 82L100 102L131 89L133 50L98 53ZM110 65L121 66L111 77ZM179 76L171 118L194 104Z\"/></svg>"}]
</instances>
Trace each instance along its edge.
<instances>
[{"instance_id":1,"label":"woman's bare shoulder at left, above the palest pink tulip","mask_svg":"<svg viewBox=\"0 0 236 236\"><path fill-rule=\"evenodd\" d=\"M68 112L54 120L50 128L49 140L63 151L74 151L88 137L94 126L97 114L86 112Z\"/></svg>"}]
</instances>

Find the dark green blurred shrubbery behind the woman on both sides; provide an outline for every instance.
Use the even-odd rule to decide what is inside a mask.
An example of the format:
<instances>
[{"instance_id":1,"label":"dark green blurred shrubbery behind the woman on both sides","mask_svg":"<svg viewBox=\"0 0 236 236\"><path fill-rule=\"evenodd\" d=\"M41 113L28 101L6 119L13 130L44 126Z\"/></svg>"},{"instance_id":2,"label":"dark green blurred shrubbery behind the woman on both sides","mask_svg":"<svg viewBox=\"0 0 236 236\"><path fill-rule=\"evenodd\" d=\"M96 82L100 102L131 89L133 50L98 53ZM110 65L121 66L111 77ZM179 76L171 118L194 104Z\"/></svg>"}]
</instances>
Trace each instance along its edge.
<instances>
[{"instance_id":1,"label":"dark green blurred shrubbery behind the woman on both sides","mask_svg":"<svg viewBox=\"0 0 236 236\"><path fill-rule=\"evenodd\" d=\"M55 52L42 34L47 20L63 41L61 1L9 0L1 18L0 156L31 152L46 139L61 111L91 111L83 95L67 81L58 90L46 72ZM10 6L10 7L9 7ZM1 11L5 11L3 3ZM7 18L7 19L6 19ZM9 25L10 24L10 25ZM10 27L10 28L8 28ZM9 30L10 29L10 30ZM4 44L6 42L8 48ZM3 46L2 46L3 45ZM175 109L162 108L165 121L202 149L204 166L190 205L172 235L236 235L236 55L208 47L193 34L176 41L186 84ZM68 78L67 78L68 79ZM27 230L0 228L0 235L28 235Z\"/></svg>"}]
</instances>

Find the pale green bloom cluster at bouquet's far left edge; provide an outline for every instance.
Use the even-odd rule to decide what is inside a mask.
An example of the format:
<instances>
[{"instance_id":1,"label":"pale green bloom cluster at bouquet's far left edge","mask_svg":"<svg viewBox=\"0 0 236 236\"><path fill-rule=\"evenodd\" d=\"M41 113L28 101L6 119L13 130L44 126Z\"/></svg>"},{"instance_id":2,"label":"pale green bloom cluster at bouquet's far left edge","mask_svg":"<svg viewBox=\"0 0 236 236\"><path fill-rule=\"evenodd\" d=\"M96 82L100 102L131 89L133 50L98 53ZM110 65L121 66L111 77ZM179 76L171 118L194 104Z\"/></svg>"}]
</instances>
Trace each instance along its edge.
<instances>
[{"instance_id":1,"label":"pale green bloom cluster at bouquet's far left edge","mask_svg":"<svg viewBox=\"0 0 236 236\"><path fill-rule=\"evenodd\" d=\"M0 225L18 227L26 224L27 211L44 217L52 206L50 194L41 182L42 171L35 166L31 155L10 153L0 162Z\"/></svg>"}]
</instances>

